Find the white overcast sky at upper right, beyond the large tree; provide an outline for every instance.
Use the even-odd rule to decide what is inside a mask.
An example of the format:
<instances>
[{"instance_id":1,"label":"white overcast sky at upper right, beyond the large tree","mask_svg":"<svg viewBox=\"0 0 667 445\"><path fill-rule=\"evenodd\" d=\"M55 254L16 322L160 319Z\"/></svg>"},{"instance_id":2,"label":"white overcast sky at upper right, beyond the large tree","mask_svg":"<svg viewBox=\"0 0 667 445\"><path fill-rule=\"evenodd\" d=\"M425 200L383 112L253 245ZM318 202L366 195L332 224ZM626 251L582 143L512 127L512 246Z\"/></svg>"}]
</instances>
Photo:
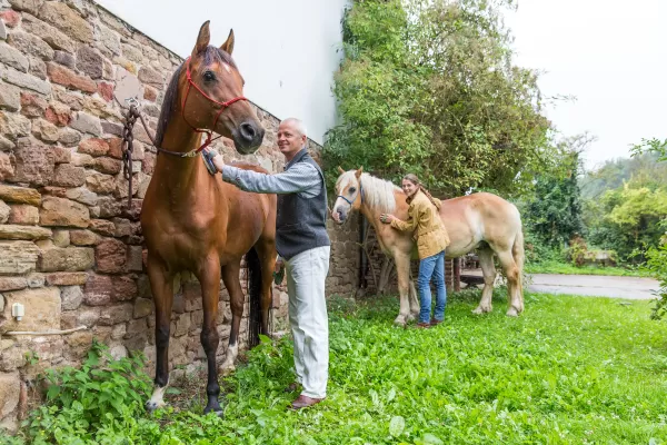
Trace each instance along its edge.
<instances>
[{"instance_id":1,"label":"white overcast sky at upper right, beyond the large tree","mask_svg":"<svg viewBox=\"0 0 667 445\"><path fill-rule=\"evenodd\" d=\"M547 116L564 136L597 136L587 168L667 138L667 0L518 0L506 22L542 93L576 97Z\"/></svg>"}]
</instances>

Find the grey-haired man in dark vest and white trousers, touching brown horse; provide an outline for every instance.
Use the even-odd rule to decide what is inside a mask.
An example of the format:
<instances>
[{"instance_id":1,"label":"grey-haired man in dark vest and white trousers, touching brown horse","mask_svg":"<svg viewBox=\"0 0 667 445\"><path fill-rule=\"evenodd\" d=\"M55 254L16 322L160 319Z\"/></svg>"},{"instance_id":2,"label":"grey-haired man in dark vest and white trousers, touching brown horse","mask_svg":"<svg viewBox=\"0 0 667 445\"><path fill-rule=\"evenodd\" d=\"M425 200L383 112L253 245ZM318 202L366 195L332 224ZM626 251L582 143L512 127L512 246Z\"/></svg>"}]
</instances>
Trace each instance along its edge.
<instances>
[{"instance_id":1,"label":"grey-haired man in dark vest and white trousers, touching brown horse","mask_svg":"<svg viewBox=\"0 0 667 445\"><path fill-rule=\"evenodd\" d=\"M278 148L285 155L285 171L265 175L226 166L216 154L212 162L222 180L242 190L278 194L276 249L285 261L289 323L295 339L296 390L302 385L292 409L321 402L327 393L329 369L329 323L325 280L329 273L327 234L327 188L317 162L308 155L306 128L295 118L280 122ZM207 156L213 151L207 150Z\"/></svg>"}]
</instances>

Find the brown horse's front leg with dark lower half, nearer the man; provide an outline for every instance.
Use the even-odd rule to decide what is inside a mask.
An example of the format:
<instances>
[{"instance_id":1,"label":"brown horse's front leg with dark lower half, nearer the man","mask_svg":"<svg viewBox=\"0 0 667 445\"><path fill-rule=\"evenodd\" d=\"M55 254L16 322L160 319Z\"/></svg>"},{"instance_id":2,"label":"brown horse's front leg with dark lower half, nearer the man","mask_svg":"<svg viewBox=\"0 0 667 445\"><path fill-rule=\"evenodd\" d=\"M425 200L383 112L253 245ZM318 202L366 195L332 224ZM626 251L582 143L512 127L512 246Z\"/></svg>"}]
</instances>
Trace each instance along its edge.
<instances>
[{"instance_id":1,"label":"brown horse's front leg with dark lower half, nearer the man","mask_svg":"<svg viewBox=\"0 0 667 445\"><path fill-rule=\"evenodd\" d=\"M206 394L208 400L203 414L211 411L220 414L220 385L218 385L218 369L216 367L216 353L220 337L218 335L218 300L220 299L220 258L217 254L209 256L197 278L201 285L201 295L203 298L203 325L199 336L201 346L206 353L208 364L208 382L206 385Z\"/></svg>"}]
</instances>

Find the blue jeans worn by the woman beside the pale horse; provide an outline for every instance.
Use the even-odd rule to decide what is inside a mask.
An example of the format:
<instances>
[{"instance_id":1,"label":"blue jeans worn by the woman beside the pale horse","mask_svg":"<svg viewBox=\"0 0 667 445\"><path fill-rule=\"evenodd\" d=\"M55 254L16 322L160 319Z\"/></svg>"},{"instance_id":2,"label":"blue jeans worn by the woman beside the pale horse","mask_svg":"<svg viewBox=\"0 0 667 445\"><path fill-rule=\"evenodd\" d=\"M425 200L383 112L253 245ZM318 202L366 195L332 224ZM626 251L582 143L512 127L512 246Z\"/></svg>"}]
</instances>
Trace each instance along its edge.
<instances>
[{"instance_id":1,"label":"blue jeans worn by the woman beside the pale horse","mask_svg":"<svg viewBox=\"0 0 667 445\"><path fill-rule=\"evenodd\" d=\"M419 277L417 289L419 291L419 323L430 322L430 280L435 278L436 284L436 313L434 318L441 322L445 319L445 305L447 304L447 290L445 289L445 250L432 257L419 261Z\"/></svg>"}]
</instances>

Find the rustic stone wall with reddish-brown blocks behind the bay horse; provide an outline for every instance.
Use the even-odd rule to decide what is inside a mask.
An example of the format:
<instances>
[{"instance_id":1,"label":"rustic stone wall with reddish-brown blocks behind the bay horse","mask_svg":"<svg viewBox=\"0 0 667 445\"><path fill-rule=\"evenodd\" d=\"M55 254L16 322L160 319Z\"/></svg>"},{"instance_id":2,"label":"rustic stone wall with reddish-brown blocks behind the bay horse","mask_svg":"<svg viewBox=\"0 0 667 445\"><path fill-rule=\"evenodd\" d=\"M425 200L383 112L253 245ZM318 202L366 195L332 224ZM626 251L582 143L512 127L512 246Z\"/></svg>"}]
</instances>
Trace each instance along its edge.
<instances>
[{"instance_id":1,"label":"rustic stone wall with reddish-brown blocks behind the bay horse","mask_svg":"<svg viewBox=\"0 0 667 445\"><path fill-rule=\"evenodd\" d=\"M113 93L120 79L136 80L155 128L166 82L181 61L91 1L0 0L1 426L16 427L27 385L40 370L79 364L93 338L115 356L155 355L138 221L155 155L137 126L133 204L125 209L121 109ZM258 116L265 142L243 160L281 171L282 156L273 148L278 120L260 109ZM240 158L230 147L228 140L217 146L227 160ZM357 284L357 225L331 227L330 234L328 290L349 295ZM203 358L200 288L182 274L176 289L171 364L192 364ZM229 334L228 299L222 287L220 357ZM13 303L26 307L21 322L11 316ZM276 288L277 324L285 323L286 304L285 289ZM78 326L86 328L6 335Z\"/></svg>"}]
</instances>

